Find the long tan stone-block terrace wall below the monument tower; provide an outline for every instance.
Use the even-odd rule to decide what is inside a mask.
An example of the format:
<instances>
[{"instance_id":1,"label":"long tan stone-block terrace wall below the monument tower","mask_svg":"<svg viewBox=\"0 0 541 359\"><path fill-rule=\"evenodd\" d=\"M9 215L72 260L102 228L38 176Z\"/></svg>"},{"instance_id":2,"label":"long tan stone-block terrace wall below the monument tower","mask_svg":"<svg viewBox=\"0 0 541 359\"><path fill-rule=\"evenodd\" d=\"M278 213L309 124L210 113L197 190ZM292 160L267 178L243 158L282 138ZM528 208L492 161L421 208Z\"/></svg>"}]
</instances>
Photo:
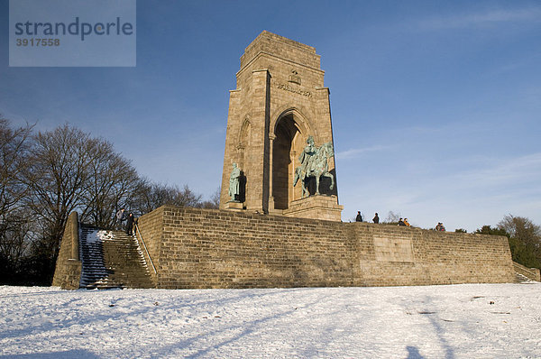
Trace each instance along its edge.
<instances>
[{"instance_id":1,"label":"long tan stone-block terrace wall below the monument tower","mask_svg":"<svg viewBox=\"0 0 541 359\"><path fill-rule=\"evenodd\" d=\"M157 288L514 281L504 236L170 206L139 226Z\"/></svg>"}]
</instances>

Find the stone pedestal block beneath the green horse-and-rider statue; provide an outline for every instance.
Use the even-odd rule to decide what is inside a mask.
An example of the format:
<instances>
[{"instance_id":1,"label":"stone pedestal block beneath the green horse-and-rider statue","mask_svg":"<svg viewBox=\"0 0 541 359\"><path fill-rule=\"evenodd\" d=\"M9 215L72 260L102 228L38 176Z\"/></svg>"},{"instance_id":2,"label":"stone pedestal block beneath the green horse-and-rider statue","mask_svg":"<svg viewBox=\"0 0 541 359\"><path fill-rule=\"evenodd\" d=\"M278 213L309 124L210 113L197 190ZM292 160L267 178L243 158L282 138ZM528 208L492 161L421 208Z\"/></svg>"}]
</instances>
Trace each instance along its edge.
<instances>
[{"instance_id":1,"label":"stone pedestal block beneath the green horse-and-rider statue","mask_svg":"<svg viewBox=\"0 0 541 359\"><path fill-rule=\"evenodd\" d=\"M340 222L343 209L336 196L315 195L292 201L289 208L284 209L283 215Z\"/></svg>"}]
</instances>

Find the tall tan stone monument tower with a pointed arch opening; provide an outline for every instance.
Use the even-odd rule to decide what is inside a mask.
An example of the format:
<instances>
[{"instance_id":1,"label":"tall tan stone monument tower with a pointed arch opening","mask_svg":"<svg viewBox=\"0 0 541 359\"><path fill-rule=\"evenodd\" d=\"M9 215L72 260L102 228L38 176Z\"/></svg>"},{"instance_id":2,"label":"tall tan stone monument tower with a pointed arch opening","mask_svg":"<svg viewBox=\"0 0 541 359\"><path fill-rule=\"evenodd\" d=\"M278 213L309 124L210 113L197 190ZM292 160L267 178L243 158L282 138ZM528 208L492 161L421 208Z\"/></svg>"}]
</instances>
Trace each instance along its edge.
<instances>
[{"instance_id":1,"label":"tall tan stone monument tower with a pointed arch opening","mask_svg":"<svg viewBox=\"0 0 541 359\"><path fill-rule=\"evenodd\" d=\"M245 49L230 91L220 208L340 221L319 59L315 48L266 31ZM303 159L316 161L324 149L320 172L310 177Z\"/></svg>"}]
</instances>

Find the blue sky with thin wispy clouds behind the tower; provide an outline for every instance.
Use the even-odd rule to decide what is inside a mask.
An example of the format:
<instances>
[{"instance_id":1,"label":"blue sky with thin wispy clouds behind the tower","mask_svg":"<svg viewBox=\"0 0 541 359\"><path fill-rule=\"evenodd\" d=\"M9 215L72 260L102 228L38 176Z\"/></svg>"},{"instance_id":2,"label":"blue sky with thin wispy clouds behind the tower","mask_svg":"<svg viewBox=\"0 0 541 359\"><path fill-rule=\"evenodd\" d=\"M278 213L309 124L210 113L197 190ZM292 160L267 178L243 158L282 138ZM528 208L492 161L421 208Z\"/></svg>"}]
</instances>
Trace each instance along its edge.
<instances>
[{"instance_id":1,"label":"blue sky with thin wispy clouds behind the tower","mask_svg":"<svg viewBox=\"0 0 541 359\"><path fill-rule=\"evenodd\" d=\"M306 43L331 89L344 221L541 225L538 1L139 0L135 68L9 68L7 0L0 29L0 113L73 124L206 197L244 48L263 30Z\"/></svg>"}]
</instances>

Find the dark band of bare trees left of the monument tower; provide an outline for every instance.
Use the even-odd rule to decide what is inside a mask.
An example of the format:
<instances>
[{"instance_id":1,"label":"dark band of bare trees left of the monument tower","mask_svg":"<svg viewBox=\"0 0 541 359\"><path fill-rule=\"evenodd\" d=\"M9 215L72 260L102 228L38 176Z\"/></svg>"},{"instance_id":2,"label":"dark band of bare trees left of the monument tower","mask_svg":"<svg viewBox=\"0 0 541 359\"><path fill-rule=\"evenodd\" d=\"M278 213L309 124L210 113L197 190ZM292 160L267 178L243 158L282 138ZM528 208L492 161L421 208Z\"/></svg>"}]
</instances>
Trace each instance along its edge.
<instances>
[{"instance_id":1,"label":"dark band of bare trees left of the monument tower","mask_svg":"<svg viewBox=\"0 0 541 359\"><path fill-rule=\"evenodd\" d=\"M188 186L142 178L112 143L62 125L36 132L0 116L0 284L50 285L69 213L109 228L120 208L217 208Z\"/></svg>"}]
</instances>

